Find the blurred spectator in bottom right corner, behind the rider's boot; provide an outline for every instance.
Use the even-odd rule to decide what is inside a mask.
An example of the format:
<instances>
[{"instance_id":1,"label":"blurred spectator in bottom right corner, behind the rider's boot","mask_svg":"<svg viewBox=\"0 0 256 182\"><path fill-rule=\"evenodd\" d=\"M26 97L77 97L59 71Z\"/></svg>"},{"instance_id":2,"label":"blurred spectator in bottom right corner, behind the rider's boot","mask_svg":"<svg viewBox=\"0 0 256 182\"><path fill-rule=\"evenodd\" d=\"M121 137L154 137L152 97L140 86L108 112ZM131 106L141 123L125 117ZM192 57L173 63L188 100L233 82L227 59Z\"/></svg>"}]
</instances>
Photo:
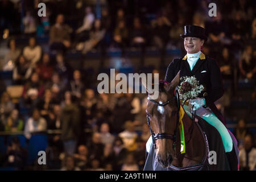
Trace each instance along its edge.
<instances>
[{"instance_id":1,"label":"blurred spectator in bottom right corner, behind the rider's boot","mask_svg":"<svg viewBox=\"0 0 256 182\"><path fill-rule=\"evenodd\" d=\"M253 171L256 168L256 148L253 147L253 136L247 134L244 140L244 148L239 152L240 170Z\"/></svg>"}]
</instances>

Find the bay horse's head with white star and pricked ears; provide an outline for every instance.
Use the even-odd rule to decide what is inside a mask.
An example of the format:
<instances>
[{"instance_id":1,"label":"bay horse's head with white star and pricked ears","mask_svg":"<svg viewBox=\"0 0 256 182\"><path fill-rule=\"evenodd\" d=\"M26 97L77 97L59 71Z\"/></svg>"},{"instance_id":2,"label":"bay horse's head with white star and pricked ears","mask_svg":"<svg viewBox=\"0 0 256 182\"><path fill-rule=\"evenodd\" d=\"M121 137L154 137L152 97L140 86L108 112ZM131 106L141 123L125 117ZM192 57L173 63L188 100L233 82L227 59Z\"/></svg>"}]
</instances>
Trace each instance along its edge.
<instances>
[{"instance_id":1,"label":"bay horse's head with white star and pricked ears","mask_svg":"<svg viewBox=\"0 0 256 182\"><path fill-rule=\"evenodd\" d=\"M179 150L176 145L174 150L175 134L177 130L178 104L175 96L175 88L179 84L179 73L177 73L171 83L159 81L159 96L152 100L148 93L147 119L151 131L154 133L153 143L155 143L155 152L158 162L163 167L168 167L175 157L175 151ZM146 86L145 84L143 84Z\"/></svg>"}]
</instances>

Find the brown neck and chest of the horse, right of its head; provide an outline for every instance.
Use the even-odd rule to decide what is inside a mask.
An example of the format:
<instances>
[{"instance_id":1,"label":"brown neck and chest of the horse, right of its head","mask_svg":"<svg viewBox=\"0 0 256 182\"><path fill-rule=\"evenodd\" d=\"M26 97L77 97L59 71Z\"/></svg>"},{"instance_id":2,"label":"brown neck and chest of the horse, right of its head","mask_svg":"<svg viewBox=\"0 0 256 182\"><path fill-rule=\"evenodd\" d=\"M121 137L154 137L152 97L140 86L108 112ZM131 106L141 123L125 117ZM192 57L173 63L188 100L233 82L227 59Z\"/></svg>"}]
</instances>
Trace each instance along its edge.
<instances>
[{"instance_id":1,"label":"brown neck and chest of the horse, right of its head","mask_svg":"<svg viewBox=\"0 0 256 182\"><path fill-rule=\"evenodd\" d=\"M172 164L174 166L177 165L177 167L188 167L193 164L200 164L204 158L205 151L203 136L196 123L189 118L187 113L184 114L182 121L184 123L185 154L180 154Z\"/></svg>"}]
</instances>

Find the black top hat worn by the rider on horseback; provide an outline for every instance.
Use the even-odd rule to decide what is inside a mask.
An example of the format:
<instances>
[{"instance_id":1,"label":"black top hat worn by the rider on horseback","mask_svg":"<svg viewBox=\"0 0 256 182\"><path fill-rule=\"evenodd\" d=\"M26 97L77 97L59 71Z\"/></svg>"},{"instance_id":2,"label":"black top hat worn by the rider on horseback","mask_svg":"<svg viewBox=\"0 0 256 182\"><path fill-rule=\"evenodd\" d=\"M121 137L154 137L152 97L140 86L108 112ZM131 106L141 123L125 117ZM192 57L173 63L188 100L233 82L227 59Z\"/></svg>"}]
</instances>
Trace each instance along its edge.
<instances>
[{"instance_id":1,"label":"black top hat worn by the rider on horseback","mask_svg":"<svg viewBox=\"0 0 256 182\"><path fill-rule=\"evenodd\" d=\"M181 38L185 38L186 36L192 36L200 39L204 39L207 41L207 36L204 34L204 28L195 26L195 25L186 25L184 27L184 35L180 34Z\"/></svg>"}]
</instances>

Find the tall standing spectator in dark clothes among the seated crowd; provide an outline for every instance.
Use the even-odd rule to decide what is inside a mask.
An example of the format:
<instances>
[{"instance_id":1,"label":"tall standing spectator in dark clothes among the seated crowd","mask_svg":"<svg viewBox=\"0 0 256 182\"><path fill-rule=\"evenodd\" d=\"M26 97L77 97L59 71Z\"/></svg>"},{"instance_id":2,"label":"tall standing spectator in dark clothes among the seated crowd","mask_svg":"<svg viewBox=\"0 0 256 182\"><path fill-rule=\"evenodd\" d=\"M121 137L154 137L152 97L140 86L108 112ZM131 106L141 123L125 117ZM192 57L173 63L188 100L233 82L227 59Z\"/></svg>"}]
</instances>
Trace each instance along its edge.
<instances>
[{"instance_id":1,"label":"tall standing spectator in dark clothes among the seated crowd","mask_svg":"<svg viewBox=\"0 0 256 182\"><path fill-rule=\"evenodd\" d=\"M61 139L66 154L73 155L76 150L77 140L80 135L80 110L73 104L69 92L61 113Z\"/></svg>"}]
</instances>

